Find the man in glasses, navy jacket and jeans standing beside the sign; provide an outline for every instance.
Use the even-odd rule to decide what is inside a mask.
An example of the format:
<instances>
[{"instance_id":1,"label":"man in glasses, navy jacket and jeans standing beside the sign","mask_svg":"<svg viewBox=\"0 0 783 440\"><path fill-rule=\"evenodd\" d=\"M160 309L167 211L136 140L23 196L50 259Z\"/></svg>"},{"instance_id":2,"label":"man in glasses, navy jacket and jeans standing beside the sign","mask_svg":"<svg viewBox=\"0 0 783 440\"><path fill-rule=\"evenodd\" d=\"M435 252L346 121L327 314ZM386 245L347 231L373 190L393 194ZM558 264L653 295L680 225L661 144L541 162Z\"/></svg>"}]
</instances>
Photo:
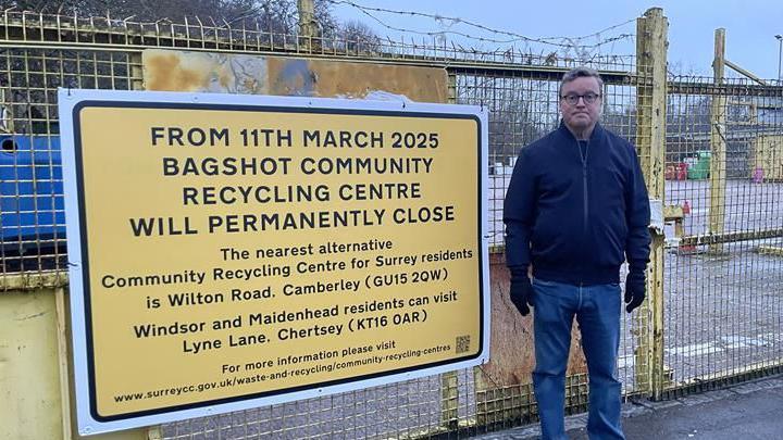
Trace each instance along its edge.
<instances>
[{"instance_id":1,"label":"man in glasses, navy jacket and jeans standing beside the sign","mask_svg":"<svg viewBox=\"0 0 783 440\"><path fill-rule=\"evenodd\" d=\"M534 306L533 386L544 439L566 439L566 366L574 316L589 375L591 439L624 439L616 377L620 266L625 310L645 298L649 201L633 146L598 124L602 80L577 67L560 84L559 128L522 149L504 206L511 301ZM532 280L530 276L532 275Z\"/></svg>"}]
</instances>

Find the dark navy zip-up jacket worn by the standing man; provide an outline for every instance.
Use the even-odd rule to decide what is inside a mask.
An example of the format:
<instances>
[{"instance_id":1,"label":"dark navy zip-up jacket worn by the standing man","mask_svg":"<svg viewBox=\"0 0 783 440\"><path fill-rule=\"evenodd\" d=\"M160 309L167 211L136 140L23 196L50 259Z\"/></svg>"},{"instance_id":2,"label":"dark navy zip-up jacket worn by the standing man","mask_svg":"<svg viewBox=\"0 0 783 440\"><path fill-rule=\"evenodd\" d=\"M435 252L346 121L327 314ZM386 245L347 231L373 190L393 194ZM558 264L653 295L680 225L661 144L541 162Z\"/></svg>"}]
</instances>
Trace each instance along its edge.
<instances>
[{"instance_id":1,"label":"dark navy zip-up jacket worn by the standing man","mask_svg":"<svg viewBox=\"0 0 783 440\"><path fill-rule=\"evenodd\" d=\"M633 146L596 124L586 148L563 125L521 150L504 205L506 264L536 278L619 282L649 260L649 200Z\"/></svg>"}]
</instances>

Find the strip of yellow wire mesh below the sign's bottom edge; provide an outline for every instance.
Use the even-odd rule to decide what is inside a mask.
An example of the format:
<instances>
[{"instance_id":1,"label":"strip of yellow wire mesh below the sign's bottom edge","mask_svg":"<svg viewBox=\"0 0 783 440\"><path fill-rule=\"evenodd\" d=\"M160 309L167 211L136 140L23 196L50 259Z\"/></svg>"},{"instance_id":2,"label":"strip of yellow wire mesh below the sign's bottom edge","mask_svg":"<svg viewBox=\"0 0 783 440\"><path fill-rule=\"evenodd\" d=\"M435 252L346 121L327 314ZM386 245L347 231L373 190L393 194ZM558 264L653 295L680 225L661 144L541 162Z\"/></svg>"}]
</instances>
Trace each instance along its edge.
<instances>
[{"instance_id":1,"label":"strip of yellow wire mesh below the sign's bottom edge","mask_svg":"<svg viewBox=\"0 0 783 440\"><path fill-rule=\"evenodd\" d=\"M472 372L169 424L166 439L421 438L467 428ZM453 401L444 399L455 395ZM457 399L456 397L460 398ZM442 402L446 402L442 405ZM448 408L447 408L448 406ZM449 411L446 411L449 410ZM451 427L451 429L449 429Z\"/></svg>"}]
</instances>

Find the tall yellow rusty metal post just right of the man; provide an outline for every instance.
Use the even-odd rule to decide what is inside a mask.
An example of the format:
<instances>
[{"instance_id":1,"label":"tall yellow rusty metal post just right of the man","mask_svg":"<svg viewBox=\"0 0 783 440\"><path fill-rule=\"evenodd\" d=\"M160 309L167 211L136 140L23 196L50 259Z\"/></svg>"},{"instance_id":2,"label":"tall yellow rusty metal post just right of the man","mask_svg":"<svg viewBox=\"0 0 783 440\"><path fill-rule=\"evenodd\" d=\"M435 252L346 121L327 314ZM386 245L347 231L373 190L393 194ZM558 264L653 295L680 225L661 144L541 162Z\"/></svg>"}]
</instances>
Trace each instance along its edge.
<instances>
[{"instance_id":1,"label":"tall yellow rusty metal post just right of the man","mask_svg":"<svg viewBox=\"0 0 783 440\"><path fill-rule=\"evenodd\" d=\"M667 35L663 10L651 8L637 21L636 146L650 200L663 205L666 163ZM649 314L637 312L636 384L649 384L654 399L663 388L663 235L652 231L648 271ZM651 319L651 331L650 328Z\"/></svg>"}]
</instances>

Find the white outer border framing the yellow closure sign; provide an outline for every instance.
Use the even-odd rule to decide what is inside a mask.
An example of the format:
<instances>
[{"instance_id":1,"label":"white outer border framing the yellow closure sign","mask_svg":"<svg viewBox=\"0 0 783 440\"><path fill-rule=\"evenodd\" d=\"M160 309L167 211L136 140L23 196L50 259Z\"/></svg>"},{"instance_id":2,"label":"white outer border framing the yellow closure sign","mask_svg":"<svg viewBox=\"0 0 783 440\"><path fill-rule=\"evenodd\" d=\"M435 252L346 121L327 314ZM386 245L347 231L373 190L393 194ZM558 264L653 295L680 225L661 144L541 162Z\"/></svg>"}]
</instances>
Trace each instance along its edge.
<instances>
[{"instance_id":1,"label":"white outer border framing the yellow closure sign","mask_svg":"<svg viewBox=\"0 0 783 440\"><path fill-rule=\"evenodd\" d=\"M489 304L489 252L488 252L488 123L487 110L476 105L433 104L410 101L372 101L347 100L331 98L307 97L273 97L225 93L185 93L163 91L123 91L123 90L87 90L63 89L58 90L59 114L61 128L62 172L65 197L65 222L67 232L69 277L71 297L71 325L74 357L74 389L76 394L76 418L78 432L89 436L102 432L124 430L130 428L153 426L170 422L177 422L194 417L204 417L215 414L243 411L271 404L291 402L303 399L318 398L327 394L341 393L364 388L383 386L390 382L410 380L432 376L461 368L469 368L484 364L489 359L490 304ZM216 104L223 108L237 106L279 106L307 108L324 110L357 110L378 112L411 112L433 114L471 115L480 122L481 156L478 160L481 173L481 289L482 289L482 351L468 361L449 363L434 367L417 369L399 374L383 375L380 377L351 380L345 384L332 385L321 388L311 388L302 391L276 394L272 397L239 400L221 403L212 406L201 406L187 410L175 410L152 415L133 416L128 418L102 422L92 417L90 411L89 373L87 367L86 316L84 315L84 285L82 265L82 231L80 212L78 203L78 189L76 181L76 158L74 138L73 112L84 101L92 102L140 102L152 103L184 103L184 104Z\"/></svg>"}]
</instances>

